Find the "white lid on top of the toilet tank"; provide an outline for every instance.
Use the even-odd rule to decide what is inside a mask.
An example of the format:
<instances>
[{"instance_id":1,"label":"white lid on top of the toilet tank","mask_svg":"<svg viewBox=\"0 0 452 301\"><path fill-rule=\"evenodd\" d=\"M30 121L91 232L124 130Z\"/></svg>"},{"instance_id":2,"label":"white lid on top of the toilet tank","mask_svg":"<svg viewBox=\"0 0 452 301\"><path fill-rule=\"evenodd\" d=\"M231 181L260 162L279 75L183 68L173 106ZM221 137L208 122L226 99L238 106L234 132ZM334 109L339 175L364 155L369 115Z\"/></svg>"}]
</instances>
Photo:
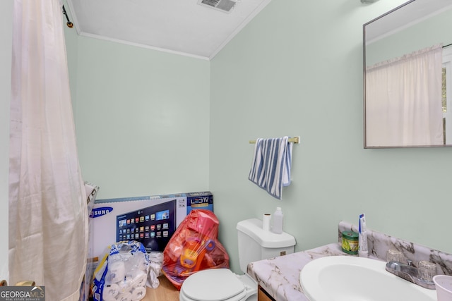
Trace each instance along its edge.
<instances>
[{"instance_id":1,"label":"white lid on top of the toilet tank","mask_svg":"<svg viewBox=\"0 0 452 301\"><path fill-rule=\"evenodd\" d=\"M246 219L237 223L237 230L249 235L262 247L278 248L292 247L295 245L295 238L288 233L276 234L264 231L260 219Z\"/></svg>"}]
</instances>

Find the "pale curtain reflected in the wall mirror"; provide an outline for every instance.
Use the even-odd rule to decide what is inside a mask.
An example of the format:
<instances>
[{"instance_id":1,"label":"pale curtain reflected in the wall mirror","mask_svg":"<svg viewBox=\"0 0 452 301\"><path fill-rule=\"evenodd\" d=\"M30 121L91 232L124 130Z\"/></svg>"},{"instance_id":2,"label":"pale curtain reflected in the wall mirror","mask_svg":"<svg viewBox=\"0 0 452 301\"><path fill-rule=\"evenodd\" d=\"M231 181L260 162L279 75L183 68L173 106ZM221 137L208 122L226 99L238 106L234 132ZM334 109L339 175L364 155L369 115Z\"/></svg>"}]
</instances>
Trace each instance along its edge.
<instances>
[{"instance_id":1,"label":"pale curtain reflected in the wall mirror","mask_svg":"<svg viewBox=\"0 0 452 301\"><path fill-rule=\"evenodd\" d=\"M444 144L441 70L441 45L367 67L368 147Z\"/></svg>"}]
</instances>

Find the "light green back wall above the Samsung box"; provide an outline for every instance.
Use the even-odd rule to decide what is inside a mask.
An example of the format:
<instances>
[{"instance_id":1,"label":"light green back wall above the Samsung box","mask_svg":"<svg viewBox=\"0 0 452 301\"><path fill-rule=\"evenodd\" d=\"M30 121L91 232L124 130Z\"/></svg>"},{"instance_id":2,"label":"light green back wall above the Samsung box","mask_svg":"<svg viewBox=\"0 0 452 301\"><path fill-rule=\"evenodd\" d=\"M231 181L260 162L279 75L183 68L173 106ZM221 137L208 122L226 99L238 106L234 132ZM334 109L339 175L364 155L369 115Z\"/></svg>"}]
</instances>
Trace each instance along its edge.
<instances>
[{"instance_id":1,"label":"light green back wall above the Samsung box","mask_svg":"<svg viewBox=\"0 0 452 301\"><path fill-rule=\"evenodd\" d=\"M78 37L75 116L98 199L208 190L209 62Z\"/></svg>"}]
</instances>

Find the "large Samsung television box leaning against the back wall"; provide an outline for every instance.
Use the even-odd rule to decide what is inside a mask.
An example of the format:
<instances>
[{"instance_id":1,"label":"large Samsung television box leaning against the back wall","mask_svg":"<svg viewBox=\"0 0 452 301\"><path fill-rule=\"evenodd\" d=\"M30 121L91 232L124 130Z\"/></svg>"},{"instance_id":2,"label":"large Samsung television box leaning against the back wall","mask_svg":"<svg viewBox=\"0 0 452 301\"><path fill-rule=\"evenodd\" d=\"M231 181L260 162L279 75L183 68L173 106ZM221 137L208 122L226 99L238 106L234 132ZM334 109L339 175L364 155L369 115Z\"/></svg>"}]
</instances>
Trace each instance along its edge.
<instances>
[{"instance_id":1,"label":"large Samsung television box leaning against the back wall","mask_svg":"<svg viewBox=\"0 0 452 301\"><path fill-rule=\"evenodd\" d=\"M109 245L137 240L148 252L162 252L177 226L194 209L213 211L210 192L98 199L90 215L90 258Z\"/></svg>"}]
</instances>

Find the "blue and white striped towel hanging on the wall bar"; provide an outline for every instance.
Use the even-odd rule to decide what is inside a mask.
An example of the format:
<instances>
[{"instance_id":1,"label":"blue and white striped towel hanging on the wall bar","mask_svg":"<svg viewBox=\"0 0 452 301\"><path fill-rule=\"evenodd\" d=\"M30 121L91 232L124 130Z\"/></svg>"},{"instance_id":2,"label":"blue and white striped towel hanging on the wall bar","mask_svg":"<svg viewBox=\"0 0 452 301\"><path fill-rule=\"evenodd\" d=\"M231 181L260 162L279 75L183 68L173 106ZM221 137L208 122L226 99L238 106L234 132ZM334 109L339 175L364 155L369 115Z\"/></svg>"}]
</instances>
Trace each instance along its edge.
<instances>
[{"instance_id":1,"label":"blue and white striped towel hanging on the wall bar","mask_svg":"<svg viewBox=\"0 0 452 301\"><path fill-rule=\"evenodd\" d=\"M290 185L292 143L289 137L257 139L249 180L281 199L283 186Z\"/></svg>"}]
</instances>

